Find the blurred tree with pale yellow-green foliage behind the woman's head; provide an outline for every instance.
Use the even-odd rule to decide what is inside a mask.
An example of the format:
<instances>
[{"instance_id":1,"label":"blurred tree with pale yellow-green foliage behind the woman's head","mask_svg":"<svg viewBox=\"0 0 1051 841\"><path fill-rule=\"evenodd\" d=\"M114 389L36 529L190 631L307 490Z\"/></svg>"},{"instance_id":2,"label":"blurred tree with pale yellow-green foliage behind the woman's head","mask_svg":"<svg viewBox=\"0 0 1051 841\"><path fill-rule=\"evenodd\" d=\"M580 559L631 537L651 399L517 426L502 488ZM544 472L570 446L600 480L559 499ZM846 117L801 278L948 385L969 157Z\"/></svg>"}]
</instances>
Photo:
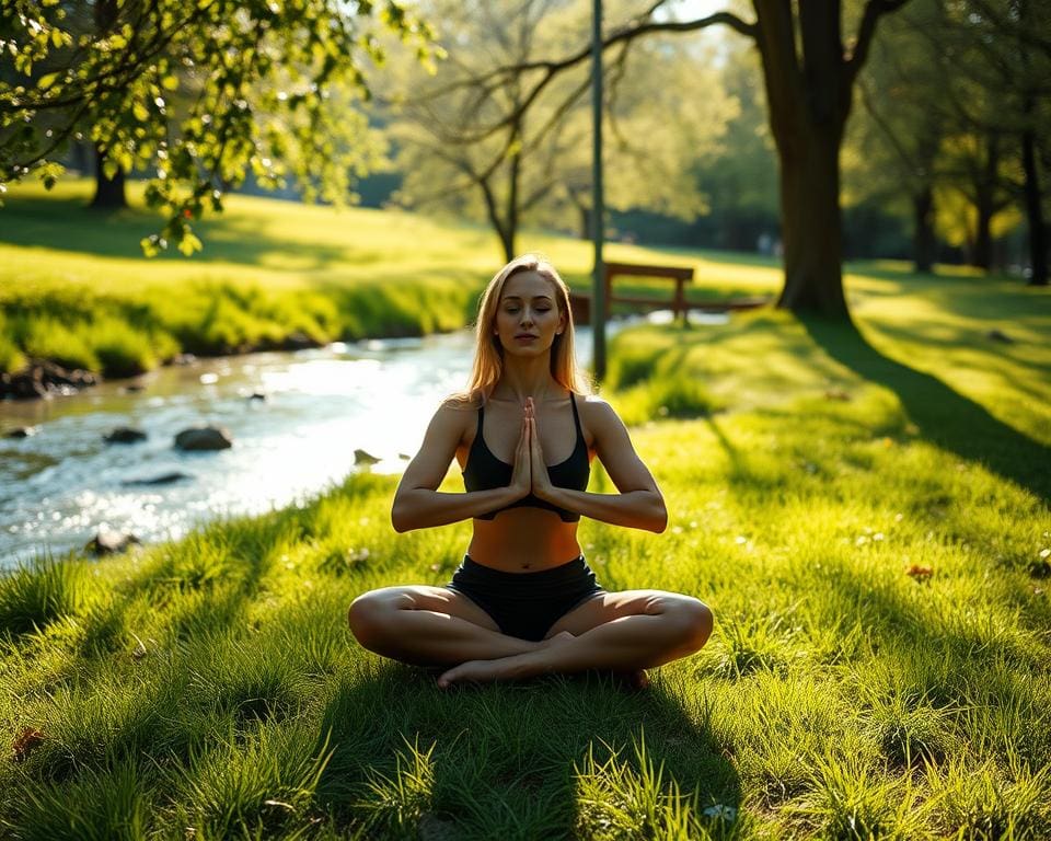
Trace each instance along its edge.
<instances>
[{"instance_id":1,"label":"blurred tree with pale yellow-green foliage behind the woman's head","mask_svg":"<svg viewBox=\"0 0 1051 841\"><path fill-rule=\"evenodd\" d=\"M405 173L399 199L484 219L508 260L527 221L588 235L587 68L573 68L533 96L530 65L579 43L590 8L579 0L444 0L420 12L442 21L438 43L448 60L431 78L411 62L403 78L386 81L391 136ZM607 68L604 160L615 173L609 205L692 218L705 205L691 170L717 148L735 103L717 73L683 45L627 46ZM494 76L508 62L521 70ZM696 85L705 96L683 102L681 91Z\"/></svg>"}]
</instances>

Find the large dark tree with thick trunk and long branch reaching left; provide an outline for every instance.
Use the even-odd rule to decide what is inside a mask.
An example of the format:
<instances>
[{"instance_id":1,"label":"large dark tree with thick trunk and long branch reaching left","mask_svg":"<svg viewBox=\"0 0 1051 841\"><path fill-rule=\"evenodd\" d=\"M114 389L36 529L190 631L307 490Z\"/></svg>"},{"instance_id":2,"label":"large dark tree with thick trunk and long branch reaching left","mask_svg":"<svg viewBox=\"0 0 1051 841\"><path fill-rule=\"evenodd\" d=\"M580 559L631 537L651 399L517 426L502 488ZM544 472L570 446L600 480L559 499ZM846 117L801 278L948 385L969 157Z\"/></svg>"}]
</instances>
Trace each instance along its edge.
<instances>
[{"instance_id":1,"label":"large dark tree with thick trunk and long branch reaching left","mask_svg":"<svg viewBox=\"0 0 1051 841\"><path fill-rule=\"evenodd\" d=\"M908 0L867 0L855 36L843 41L842 0L752 0L755 20L730 11L693 21L658 20L657 0L603 38L605 50L660 32L696 32L717 24L751 38L759 50L771 134L777 150L785 280L777 304L850 320L843 295L840 149L858 72L879 20ZM522 102L532 102L563 73L587 61L590 47L562 59L508 62L474 80L492 89L523 70L535 77ZM696 95L696 94L695 94ZM518 119L512 106L495 126Z\"/></svg>"}]
</instances>

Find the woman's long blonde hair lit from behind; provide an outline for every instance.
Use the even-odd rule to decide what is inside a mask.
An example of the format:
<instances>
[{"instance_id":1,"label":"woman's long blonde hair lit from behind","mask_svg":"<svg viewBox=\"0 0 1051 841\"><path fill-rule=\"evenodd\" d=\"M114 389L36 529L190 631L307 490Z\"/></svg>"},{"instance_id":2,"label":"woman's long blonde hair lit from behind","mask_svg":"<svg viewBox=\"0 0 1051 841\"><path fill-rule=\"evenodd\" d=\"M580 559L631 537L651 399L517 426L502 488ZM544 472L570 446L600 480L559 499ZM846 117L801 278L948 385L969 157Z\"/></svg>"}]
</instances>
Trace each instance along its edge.
<instances>
[{"instance_id":1,"label":"woman's long blonde hair lit from behind","mask_svg":"<svg viewBox=\"0 0 1051 841\"><path fill-rule=\"evenodd\" d=\"M522 254L515 257L489 280L482 299L478 301L478 318L474 325L474 364L467 380L466 391L450 396L453 404L484 404L504 375L504 347L494 334L496 311L500 304L504 286L522 272L535 272L555 289L555 303L558 313L565 315L566 326L555 336L551 346L551 376L562 388L576 394L590 394L591 387L587 375L577 365L574 353L573 310L569 307L569 287L555 267L539 254Z\"/></svg>"}]
</instances>

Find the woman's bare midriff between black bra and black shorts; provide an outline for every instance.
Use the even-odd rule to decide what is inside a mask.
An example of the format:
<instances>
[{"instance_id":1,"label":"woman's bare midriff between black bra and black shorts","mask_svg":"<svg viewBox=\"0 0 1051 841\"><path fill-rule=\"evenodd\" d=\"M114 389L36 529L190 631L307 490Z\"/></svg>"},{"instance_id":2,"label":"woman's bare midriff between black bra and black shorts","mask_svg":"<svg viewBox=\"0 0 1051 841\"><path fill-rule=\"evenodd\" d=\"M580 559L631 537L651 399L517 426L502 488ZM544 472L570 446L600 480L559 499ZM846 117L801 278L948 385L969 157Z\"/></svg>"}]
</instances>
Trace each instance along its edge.
<instances>
[{"instance_id":1,"label":"woman's bare midriff between black bra and black shorts","mask_svg":"<svg viewBox=\"0 0 1051 841\"><path fill-rule=\"evenodd\" d=\"M577 523L544 508L511 508L492 520L474 520L467 554L506 573L550 569L579 557Z\"/></svg>"}]
</instances>

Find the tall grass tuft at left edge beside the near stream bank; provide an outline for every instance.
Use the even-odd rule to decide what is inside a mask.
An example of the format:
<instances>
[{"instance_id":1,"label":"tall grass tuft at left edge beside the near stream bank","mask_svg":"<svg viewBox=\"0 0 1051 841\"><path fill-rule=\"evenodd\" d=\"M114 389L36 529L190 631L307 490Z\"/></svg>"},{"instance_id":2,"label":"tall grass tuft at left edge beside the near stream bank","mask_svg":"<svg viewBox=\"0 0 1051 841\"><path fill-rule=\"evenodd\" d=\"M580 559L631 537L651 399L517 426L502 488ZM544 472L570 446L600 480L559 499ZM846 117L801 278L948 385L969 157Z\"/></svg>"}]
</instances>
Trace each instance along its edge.
<instances>
[{"instance_id":1,"label":"tall grass tuft at left edge beside the near stream bank","mask_svg":"<svg viewBox=\"0 0 1051 841\"><path fill-rule=\"evenodd\" d=\"M0 633L28 633L73 613L83 572L72 558L50 556L0 572Z\"/></svg>"}]
</instances>

